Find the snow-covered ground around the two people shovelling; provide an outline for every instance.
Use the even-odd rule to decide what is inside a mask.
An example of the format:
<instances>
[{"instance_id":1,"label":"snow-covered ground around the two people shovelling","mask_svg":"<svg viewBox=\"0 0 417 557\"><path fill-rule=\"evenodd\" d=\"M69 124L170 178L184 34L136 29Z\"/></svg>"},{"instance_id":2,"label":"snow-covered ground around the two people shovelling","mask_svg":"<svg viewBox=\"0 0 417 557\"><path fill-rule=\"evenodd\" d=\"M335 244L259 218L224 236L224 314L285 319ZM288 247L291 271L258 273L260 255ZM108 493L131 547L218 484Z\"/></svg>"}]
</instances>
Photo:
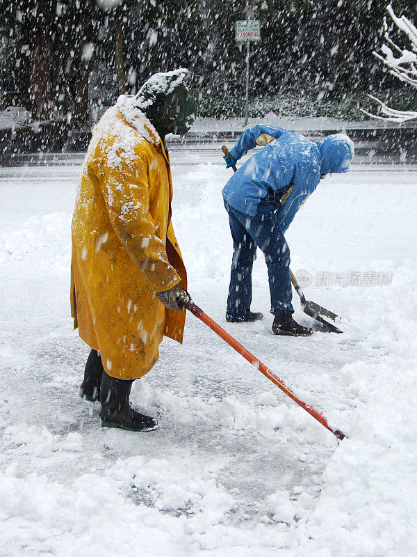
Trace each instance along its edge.
<instances>
[{"instance_id":1,"label":"snow-covered ground around the two people shovelling","mask_svg":"<svg viewBox=\"0 0 417 557\"><path fill-rule=\"evenodd\" d=\"M417 168L322 181L287 239L307 297L345 332L281 338L261 253L265 319L224 320L220 150L172 150L195 303L343 430L338 445L193 315L134 384L161 427L100 427L78 398L89 349L69 315L72 162L0 170L0 556L415 557Z\"/></svg>"}]
</instances>

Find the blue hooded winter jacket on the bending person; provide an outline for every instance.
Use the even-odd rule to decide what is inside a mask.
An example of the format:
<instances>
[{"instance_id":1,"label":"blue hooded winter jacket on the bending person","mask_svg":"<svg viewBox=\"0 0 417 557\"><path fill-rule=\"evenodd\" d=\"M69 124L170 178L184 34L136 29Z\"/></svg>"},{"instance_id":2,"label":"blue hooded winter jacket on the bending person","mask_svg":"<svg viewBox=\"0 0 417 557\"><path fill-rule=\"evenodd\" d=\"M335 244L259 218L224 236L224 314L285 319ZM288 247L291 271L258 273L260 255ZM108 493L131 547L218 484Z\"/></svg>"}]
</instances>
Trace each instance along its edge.
<instances>
[{"instance_id":1,"label":"blue hooded winter jacket on the bending person","mask_svg":"<svg viewBox=\"0 0 417 557\"><path fill-rule=\"evenodd\" d=\"M279 192L284 232L318 186L320 176L346 172L354 154L353 143L345 134L312 142L281 127L256 125L243 132L230 155L238 160L256 145L265 147L240 166L222 194L231 207L253 217L261 199L271 191Z\"/></svg>"}]
</instances>

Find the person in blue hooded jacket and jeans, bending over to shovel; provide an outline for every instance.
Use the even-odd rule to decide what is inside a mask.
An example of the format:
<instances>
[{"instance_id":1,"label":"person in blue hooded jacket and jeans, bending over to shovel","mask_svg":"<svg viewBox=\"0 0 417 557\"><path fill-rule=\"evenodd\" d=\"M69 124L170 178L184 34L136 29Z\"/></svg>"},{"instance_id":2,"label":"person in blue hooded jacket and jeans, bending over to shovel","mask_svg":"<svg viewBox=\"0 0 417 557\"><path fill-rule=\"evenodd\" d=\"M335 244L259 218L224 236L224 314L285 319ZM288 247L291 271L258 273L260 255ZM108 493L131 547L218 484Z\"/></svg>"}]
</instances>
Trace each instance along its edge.
<instances>
[{"instance_id":1,"label":"person in blue hooded jacket and jeans, bending over to shovel","mask_svg":"<svg viewBox=\"0 0 417 557\"><path fill-rule=\"evenodd\" d=\"M256 125L245 130L230 157L224 157L227 168L256 146L263 149L240 166L222 190L234 244L226 320L263 319L261 313L250 311L252 265L259 247L268 267L270 311L275 316L272 332L309 336L313 330L293 320L290 250L284 233L320 178L347 172L353 142L345 134L313 142L281 127Z\"/></svg>"}]
</instances>

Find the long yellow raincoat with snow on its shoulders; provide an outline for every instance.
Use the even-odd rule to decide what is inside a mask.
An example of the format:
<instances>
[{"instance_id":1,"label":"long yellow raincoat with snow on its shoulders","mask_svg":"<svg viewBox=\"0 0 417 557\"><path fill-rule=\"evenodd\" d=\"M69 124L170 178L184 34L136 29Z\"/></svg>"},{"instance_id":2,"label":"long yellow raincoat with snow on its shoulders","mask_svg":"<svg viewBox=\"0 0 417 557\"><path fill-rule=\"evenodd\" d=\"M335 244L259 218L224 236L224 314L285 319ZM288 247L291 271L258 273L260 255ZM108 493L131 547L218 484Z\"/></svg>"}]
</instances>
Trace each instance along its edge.
<instances>
[{"instance_id":1,"label":"long yellow raincoat with snow on its shoulders","mask_svg":"<svg viewBox=\"0 0 417 557\"><path fill-rule=\"evenodd\" d=\"M145 375L163 335L182 342L185 311L156 297L177 283L186 288L171 199L167 150L121 95L92 134L72 220L74 328L112 377Z\"/></svg>"}]
</instances>

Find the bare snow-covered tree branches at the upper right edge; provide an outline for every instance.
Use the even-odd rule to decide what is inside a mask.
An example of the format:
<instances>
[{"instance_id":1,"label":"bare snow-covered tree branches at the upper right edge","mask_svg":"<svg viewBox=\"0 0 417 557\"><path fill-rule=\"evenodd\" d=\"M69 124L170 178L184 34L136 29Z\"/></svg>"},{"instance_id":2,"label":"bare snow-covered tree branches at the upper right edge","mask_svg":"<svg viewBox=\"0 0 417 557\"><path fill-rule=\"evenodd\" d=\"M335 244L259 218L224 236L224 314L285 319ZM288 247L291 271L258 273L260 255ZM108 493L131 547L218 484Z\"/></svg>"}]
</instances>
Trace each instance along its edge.
<instances>
[{"instance_id":1,"label":"bare snow-covered tree branches at the upper right edge","mask_svg":"<svg viewBox=\"0 0 417 557\"><path fill-rule=\"evenodd\" d=\"M402 15L402 17L397 17L391 4L386 7L386 10L388 11L391 19L398 27L398 29L405 33L405 35L411 42L411 50L405 48L402 49L398 47L398 45L396 45L393 40L391 40L391 37L389 36L389 28L386 22L386 17L384 17L384 36L386 39L386 44L383 45L383 47L381 48L382 54L379 54L378 52L374 52L373 54L377 58L379 58L379 60L382 61L382 63L384 63L389 68L390 73L400 79L400 81L404 81L404 83L417 88L417 28L404 15ZM417 119L417 111L395 110L388 107L384 102L382 102L382 100L379 100L377 97L374 97L373 95L369 95L369 97L377 102L377 104L379 104L382 113L384 113L385 115L376 116L375 114L369 113L366 110L362 110L362 112L368 114L368 116L371 116L372 118L378 118L379 120L390 120L391 122L398 123Z\"/></svg>"}]
</instances>

